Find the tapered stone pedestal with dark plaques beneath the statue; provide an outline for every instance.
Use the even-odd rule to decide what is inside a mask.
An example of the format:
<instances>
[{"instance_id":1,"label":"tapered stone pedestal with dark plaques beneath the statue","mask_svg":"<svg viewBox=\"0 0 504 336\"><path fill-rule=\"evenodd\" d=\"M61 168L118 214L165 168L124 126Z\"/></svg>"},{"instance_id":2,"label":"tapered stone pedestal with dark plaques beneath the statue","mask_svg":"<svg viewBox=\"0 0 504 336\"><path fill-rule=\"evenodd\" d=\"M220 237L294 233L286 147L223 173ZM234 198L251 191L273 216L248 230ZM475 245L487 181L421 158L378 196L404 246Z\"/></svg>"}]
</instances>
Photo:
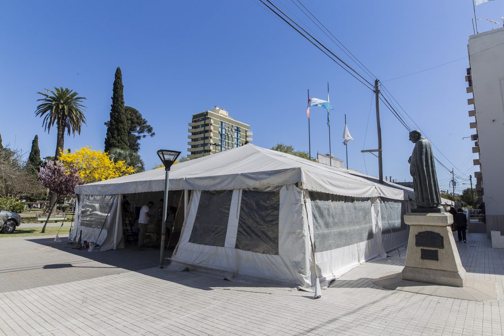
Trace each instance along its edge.
<instances>
[{"instance_id":1,"label":"tapered stone pedestal with dark plaques beneath the statue","mask_svg":"<svg viewBox=\"0 0 504 336\"><path fill-rule=\"evenodd\" d=\"M466 270L453 239L449 213L408 213L410 226L403 280L464 287Z\"/></svg>"}]
</instances>

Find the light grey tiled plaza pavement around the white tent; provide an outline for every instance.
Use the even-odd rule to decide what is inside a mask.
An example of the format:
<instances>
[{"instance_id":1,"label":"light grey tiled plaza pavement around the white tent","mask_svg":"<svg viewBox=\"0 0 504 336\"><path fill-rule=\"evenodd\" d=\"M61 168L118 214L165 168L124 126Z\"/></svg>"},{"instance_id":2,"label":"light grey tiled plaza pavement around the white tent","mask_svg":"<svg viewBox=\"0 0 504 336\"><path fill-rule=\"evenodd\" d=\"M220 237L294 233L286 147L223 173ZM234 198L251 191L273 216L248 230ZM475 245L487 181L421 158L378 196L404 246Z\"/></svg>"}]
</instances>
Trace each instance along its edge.
<instances>
[{"instance_id":1,"label":"light grey tiled plaza pavement around the white tent","mask_svg":"<svg viewBox=\"0 0 504 336\"><path fill-rule=\"evenodd\" d=\"M88 279L75 274L72 282L65 279L43 287L27 284L25 289L1 293L0 328L13 335L502 334L504 252L492 249L484 234L468 238L467 244L457 243L468 277L495 281L499 300L465 301L372 285L372 279L400 272L406 253L401 250L390 258L353 268L324 289L319 300L291 288L260 287L157 267L140 271L121 268L120 272ZM18 242L27 253L32 252L33 245L40 245L21 239ZM4 246L0 246L2 269L4 252ZM112 256L122 252L102 253L110 253L110 259L100 263L110 265L117 262ZM33 255L42 258L39 264L72 263L76 257L47 246ZM150 258L153 260L146 262L155 263L154 254ZM23 258L23 262L29 260ZM57 271L69 270L73 267Z\"/></svg>"}]
</instances>

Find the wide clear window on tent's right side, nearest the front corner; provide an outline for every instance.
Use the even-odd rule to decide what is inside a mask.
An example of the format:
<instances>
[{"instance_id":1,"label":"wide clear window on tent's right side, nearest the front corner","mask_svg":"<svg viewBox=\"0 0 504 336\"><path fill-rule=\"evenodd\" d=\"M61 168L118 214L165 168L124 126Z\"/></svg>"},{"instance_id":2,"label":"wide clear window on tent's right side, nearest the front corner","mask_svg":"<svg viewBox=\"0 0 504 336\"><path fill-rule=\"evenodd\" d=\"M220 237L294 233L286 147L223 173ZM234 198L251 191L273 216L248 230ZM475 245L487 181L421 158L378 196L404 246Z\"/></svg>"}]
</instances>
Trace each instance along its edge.
<instances>
[{"instance_id":1,"label":"wide clear window on tent's right side, nearest the front corner","mask_svg":"<svg viewBox=\"0 0 504 336\"><path fill-rule=\"evenodd\" d=\"M323 252L373 238L371 200L310 192L315 251Z\"/></svg>"}]
</instances>

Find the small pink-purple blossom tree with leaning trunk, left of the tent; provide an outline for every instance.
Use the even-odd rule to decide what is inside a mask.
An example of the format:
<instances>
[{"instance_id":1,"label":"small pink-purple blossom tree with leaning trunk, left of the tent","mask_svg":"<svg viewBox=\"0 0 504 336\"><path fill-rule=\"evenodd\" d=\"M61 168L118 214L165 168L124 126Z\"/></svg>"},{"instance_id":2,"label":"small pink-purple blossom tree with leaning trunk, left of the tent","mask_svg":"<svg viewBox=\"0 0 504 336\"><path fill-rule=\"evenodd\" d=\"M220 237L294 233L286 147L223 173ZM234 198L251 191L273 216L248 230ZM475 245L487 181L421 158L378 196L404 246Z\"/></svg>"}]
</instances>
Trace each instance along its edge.
<instances>
[{"instance_id":1,"label":"small pink-purple blossom tree with leaning trunk, left of the tent","mask_svg":"<svg viewBox=\"0 0 504 336\"><path fill-rule=\"evenodd\" d=\"M49 222L49 217L56 207L60 196L69 195L75 192L75 187L82 184L82 179L77 174L77 168L70 166L65 168L61 162L47 160L45 167L40 168L38 177L43 186L51 190L56 195L56 201L52 204L47 220L42 227L41 233L45 232L45 226Z\"/></svg>"}]
</instances>

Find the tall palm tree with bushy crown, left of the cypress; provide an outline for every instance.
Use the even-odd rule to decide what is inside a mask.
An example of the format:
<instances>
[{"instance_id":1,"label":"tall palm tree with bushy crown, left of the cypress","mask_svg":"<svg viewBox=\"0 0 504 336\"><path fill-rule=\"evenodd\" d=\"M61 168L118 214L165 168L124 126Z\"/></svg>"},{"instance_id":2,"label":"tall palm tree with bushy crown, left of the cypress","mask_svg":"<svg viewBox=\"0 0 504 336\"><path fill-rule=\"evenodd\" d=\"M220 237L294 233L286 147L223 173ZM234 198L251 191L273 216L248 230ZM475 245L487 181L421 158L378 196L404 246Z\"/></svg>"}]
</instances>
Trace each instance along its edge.
<instances>
[{"instance_id":1,"label":"tall palm tree with bushy crown, left of the cypress","mask_svg":"<svg viewBox=\"0 0 504 336\"><path fill-rule=\"evenodd\" d=\"M65 130L68 135L73 133L81 133L82 124L86 124L84 109L82 105L84 97L79 97L77 92L68 88L56 88L54 91L44 89L47 93L37 92L43 98L37 99L41 101L40 105L35 110L35 115L43 117L42 125L49 133L54 123L56 123L56 153L54 159L59 158L59 152L65 146Z\"/></svg>"}]
</instances>

